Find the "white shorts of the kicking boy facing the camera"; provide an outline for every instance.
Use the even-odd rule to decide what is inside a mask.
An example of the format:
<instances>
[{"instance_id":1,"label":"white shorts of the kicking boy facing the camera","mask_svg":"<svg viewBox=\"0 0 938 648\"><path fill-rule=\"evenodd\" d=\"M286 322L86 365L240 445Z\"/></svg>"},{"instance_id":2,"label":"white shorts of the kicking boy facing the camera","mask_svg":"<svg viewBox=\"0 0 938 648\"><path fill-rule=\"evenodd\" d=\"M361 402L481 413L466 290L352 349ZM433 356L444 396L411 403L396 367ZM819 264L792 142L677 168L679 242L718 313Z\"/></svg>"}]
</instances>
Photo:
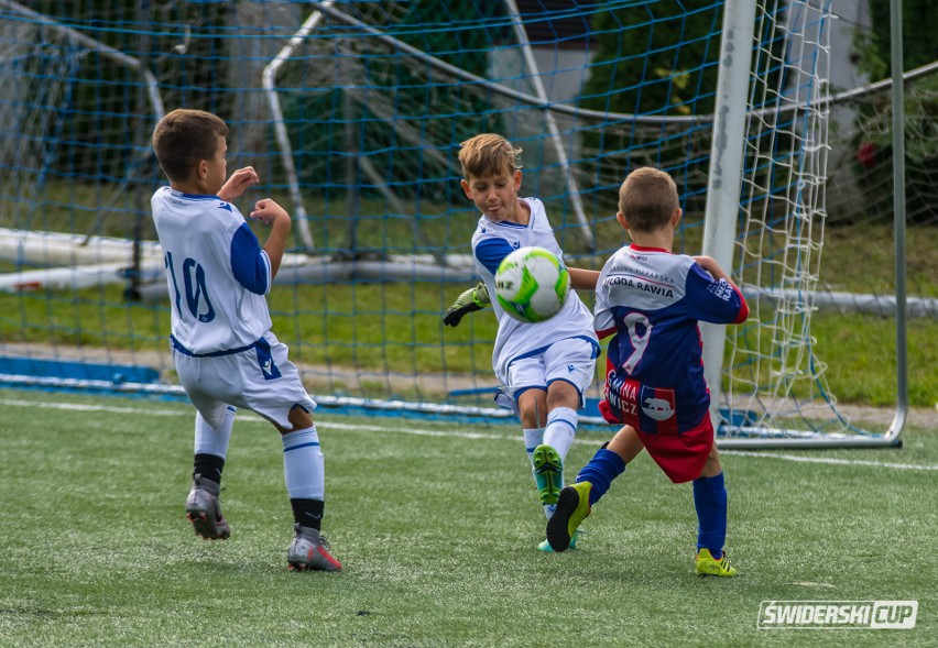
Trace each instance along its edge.
<instances>
[{"instance_id":1,"label":"white shorts of the kicking boy facing the camera","mask_svg":"<svg viewBox=\"0 0 938 648\"><path fill-rule=\"evenodd\" d=\"M547 391L550 383L565 381L580 393L592 384L599 344L585 338L558 340L533 353L511 360L498 375L495 403L517 413L517 396L526 389Z\"/></svg>"}]
</instances>

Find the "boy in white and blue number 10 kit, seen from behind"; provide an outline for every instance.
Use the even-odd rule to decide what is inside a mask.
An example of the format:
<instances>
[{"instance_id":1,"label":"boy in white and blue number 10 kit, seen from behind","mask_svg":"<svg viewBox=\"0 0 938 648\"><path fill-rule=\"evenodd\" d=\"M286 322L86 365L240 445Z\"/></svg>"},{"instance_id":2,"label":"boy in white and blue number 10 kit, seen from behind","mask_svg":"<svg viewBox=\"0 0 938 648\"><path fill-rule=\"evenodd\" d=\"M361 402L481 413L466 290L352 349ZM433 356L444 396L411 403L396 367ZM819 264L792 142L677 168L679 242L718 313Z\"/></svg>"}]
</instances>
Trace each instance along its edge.
<instances>
[{"instance_id":1,"label":"boy in white and blue number 10 kit, seen from behind","mask_svg":"<svg viewBox=\"0 0 938 648\"><path fill-rule=\"evenodd\" d=\"M231 529L218 495L234 408L271 421L283 441L284 477L293 507L291 569L338 571L319 535L325 477L319 437L306 393L287 348L277 341L264 296L280 268L290 215L259 200L251 218L270 226L261 248L244 217L229 200L258 182L252 167L228 182L228 127L209 112L174 110L153 132L153 150L168 187L151 200L163 248L172 301L173 360L196 407L193 485L186 515L197 535L216 540Z\"/></svg>"}]
</instances>

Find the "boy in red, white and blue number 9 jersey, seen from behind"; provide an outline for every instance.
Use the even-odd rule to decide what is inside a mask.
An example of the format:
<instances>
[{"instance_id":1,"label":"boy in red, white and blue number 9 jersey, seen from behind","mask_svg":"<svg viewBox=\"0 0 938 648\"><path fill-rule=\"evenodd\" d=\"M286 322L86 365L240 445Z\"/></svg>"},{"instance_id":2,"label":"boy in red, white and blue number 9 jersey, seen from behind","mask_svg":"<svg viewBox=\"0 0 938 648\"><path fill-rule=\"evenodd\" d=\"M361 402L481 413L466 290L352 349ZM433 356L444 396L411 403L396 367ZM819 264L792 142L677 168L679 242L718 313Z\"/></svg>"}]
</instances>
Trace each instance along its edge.
<instances>
[{"instance_id":1,"label":"boy in red, white and blue number 9 jersey, seen from behind","mask_svg":"<svg viewBox=\"0 0 938 648\"><path fill-rule=\"evenodd\" d=\"M569 539L613 479L643 449L674 483L694 483L696 571L734 576L723 553L727 490L704 378L698 321L741 323L749 307L709 256L672 253L680 221L677 186L654 168L631 173L617 219L632 244L607 261L597 284L595 326L609 342L604 398L609 422L625 424L560 492L547 525L555 551Z\"/></svg>"}]
</instances>

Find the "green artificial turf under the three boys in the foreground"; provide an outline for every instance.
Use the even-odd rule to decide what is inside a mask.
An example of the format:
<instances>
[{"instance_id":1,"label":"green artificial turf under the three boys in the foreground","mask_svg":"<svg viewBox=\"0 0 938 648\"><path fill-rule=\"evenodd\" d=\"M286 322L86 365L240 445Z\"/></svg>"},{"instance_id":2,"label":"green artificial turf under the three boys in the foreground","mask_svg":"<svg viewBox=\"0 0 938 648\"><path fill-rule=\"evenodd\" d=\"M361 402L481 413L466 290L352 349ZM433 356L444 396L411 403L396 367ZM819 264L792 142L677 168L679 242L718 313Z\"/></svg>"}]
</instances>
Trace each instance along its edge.
<instances>
[{"instance_id":1,"label":"green artificial turf under the three boys in the foreground","mask_svg":"<svg viewBox=\"0 0 938 648\"><path fill-rule=\"evenodd\" d=\"M647 457L596 507L579 549L543 554L514 426L320 410L324 529L346 569L294 574L268 424L239 415L222 494L233 534L211 543L182 514L190 407L0 391L0 411L4 647L864 647L938 634L936 430L908 429L901 450L724 452L742 575L718 581L692 573L691 488ZM568 474L606 438L581 430ZM918 623L761 631L766 600L917 600Z\"/></svg>"}]
</instances>

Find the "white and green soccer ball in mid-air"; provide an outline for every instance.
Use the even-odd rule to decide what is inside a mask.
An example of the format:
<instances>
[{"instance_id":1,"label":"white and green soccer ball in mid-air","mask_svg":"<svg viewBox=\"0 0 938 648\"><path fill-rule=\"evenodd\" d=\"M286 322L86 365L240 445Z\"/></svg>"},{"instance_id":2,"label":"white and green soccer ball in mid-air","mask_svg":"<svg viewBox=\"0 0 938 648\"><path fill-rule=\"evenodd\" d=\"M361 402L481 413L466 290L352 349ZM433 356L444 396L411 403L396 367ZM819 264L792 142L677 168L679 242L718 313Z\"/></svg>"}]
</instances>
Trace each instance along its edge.
<instances>
[{"instance_id":1,"label":"white and green soccer ball in mid-air","mask_svg":"<svg viewBox=\"0 0 938 648\"><path fill-rule=\"evenodd\" d=\"M564 307L570 273L544 248L521 248L505 256L495 272L495 298L511 317L524 322L550 319Z\"/></svg>"}]
</instances>

